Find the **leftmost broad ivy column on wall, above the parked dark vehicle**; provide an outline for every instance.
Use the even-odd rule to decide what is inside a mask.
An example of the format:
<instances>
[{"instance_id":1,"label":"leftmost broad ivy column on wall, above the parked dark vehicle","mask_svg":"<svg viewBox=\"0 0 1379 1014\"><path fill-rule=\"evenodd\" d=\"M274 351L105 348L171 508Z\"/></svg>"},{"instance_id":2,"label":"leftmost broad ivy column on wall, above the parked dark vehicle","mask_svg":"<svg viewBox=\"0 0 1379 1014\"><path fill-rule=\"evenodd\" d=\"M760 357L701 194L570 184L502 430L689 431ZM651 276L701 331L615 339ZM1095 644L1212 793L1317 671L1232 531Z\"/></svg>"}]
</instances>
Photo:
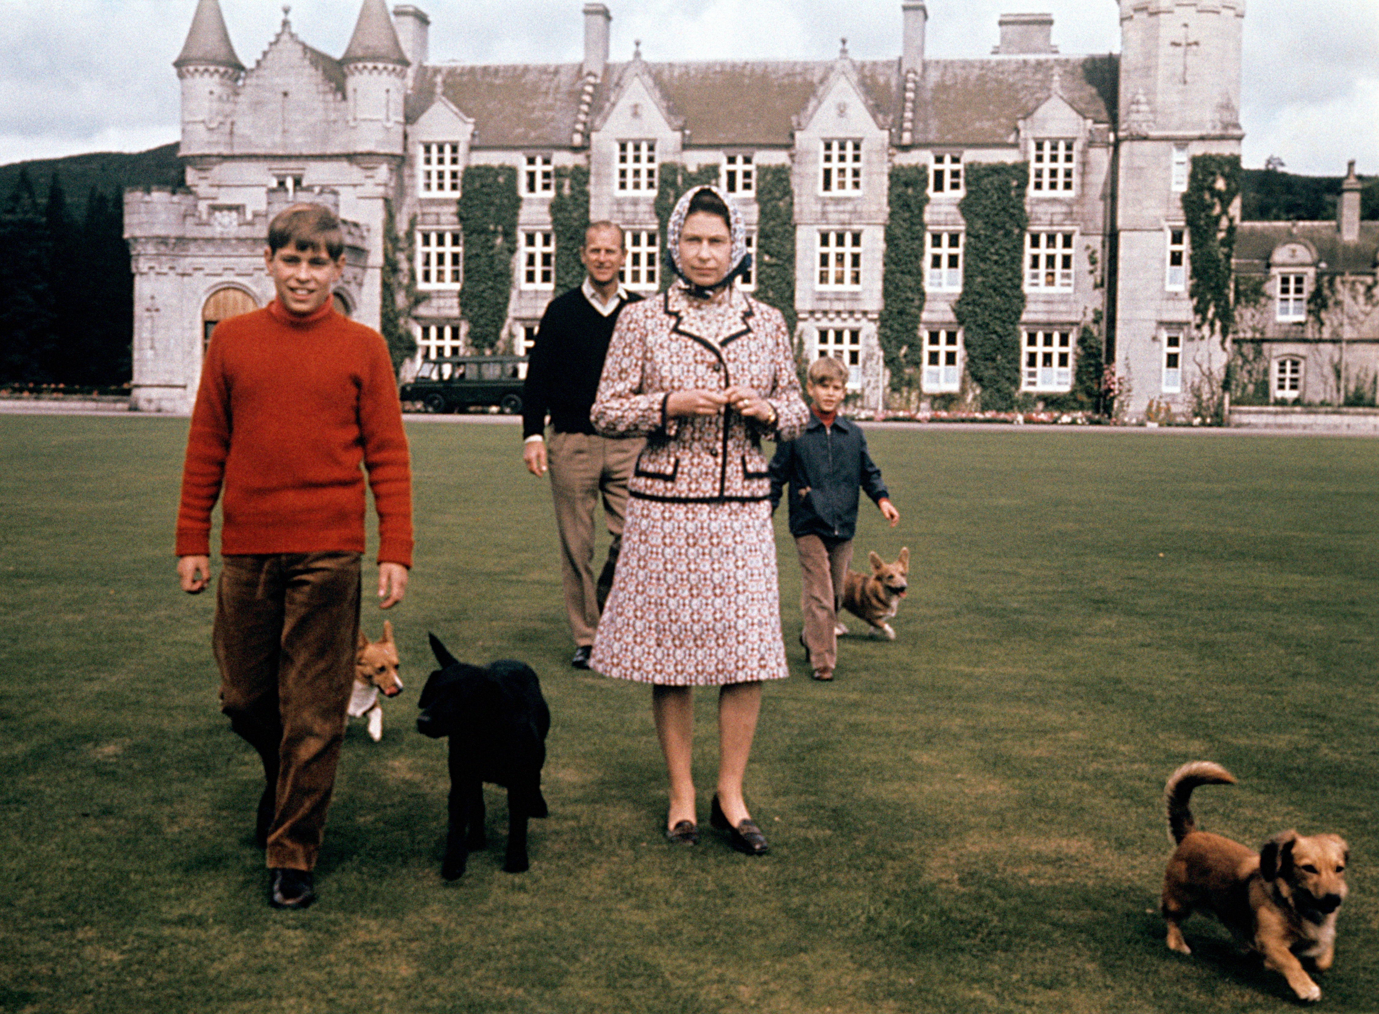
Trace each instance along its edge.
<instances>
[{"instance_id":1,"label":"leftmost broad ivy column on wall, above the parked dark vehicle","mask_svg":"<svg viewBox=\"0 0 1379 1014\"><path fill-rule=\"evenodd\" d=\"M465 281L461 313L469 321L469 347L491 353L507 322L517 255L517 169L467 165L461 180L459 225L465 230Z\"/></svg>"}]
</instances>

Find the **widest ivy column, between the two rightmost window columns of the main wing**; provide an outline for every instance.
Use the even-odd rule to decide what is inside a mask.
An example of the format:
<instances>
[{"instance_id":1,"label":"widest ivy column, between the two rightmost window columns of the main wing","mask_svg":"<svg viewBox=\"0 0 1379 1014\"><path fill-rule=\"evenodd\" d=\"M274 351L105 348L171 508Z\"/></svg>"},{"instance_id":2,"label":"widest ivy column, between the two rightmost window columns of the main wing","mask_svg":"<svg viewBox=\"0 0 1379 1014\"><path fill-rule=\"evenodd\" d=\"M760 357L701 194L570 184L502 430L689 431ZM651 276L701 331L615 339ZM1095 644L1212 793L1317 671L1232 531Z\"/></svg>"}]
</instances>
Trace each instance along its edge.
<instances>
[{"instance_id":1,"label":"widest ivy column, between the two rightmost window columns of the main wing","mask_svg":"<svg viewBox=\"0 0 1379 1014\"><path fill-rule=\"evenodd\" d=\"M982 408L1004 412L1020 386L1020 315L1027 163L972 163L958 203L967 237L963 295L953 313L963 327L967 373L982 389Z\"/></svg>"}]
</instances>

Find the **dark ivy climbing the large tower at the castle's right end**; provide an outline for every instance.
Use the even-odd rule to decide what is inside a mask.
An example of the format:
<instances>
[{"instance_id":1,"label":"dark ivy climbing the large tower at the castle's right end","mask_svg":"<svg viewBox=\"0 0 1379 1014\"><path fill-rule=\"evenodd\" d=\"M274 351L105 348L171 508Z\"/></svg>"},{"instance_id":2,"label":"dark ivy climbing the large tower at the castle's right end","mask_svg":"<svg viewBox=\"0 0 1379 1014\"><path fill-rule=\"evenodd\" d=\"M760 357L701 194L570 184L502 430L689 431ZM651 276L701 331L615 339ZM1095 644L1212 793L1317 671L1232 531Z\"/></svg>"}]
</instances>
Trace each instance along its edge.
<instances>
[{"instance_id":1,"label":"dark ivy climbing the large tower at the castle's right end","mask_svg":"<svg viewBox=\"0 0 1379 1014\"><path fill-rule=\"evenodd\" d=\"M1234 204L1240 196L1238 154L1193 156L1183 192L1183 215L1191 244L1187 293L1193 315L1205 335L1230 336L1236 322L1231 302L1231 259L1236 255Z\"/></svg>"}]
</instances>

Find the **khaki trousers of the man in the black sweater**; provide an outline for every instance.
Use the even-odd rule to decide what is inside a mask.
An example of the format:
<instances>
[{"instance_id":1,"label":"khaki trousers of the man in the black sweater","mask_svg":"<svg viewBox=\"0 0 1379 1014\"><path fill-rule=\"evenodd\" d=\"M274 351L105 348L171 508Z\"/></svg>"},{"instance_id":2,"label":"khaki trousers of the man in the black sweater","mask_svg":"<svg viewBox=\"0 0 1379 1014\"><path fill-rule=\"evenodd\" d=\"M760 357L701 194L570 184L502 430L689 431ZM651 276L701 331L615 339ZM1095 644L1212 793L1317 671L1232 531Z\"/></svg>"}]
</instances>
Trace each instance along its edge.
<instances>
[{"instance_id":1,"label":"khaki trousers of the man in the black sweater","mask_svg":"<svg viewBox=\"0 0 1379 1014\"><path fill-rule=\"evenodd\" d=\"M593 645L598 616L612 588L627 514L627 479L643 439L615 439L587 433L553 433L546 446L550 496L560 533L560 573L570 632L579 648ZM612 536L608 559L594 577L594 511L603 496L604 522Z\"/></svg>"}]
</instances>

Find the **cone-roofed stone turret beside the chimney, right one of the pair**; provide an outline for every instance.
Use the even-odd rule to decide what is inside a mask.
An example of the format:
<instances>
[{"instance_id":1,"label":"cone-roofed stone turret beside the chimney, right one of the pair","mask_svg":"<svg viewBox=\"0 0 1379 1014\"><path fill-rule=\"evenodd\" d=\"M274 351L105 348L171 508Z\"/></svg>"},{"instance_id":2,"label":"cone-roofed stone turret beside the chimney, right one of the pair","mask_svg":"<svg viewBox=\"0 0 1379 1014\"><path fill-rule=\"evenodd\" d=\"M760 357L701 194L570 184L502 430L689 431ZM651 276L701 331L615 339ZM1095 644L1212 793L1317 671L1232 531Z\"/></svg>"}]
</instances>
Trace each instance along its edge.
<instances>
[{"instance_id":1,"label":"cone-roofed stone turret beside the chimney, right one of the pair","mask_svg":"<svg viewBox=\"0 0 1379 1014\"><path fill-rule=\"evenodd\" d=\"M383 0L364 0L341 56L354 152L403 153L403 98L410 61Z\"/></svg>"}]
</instances>

